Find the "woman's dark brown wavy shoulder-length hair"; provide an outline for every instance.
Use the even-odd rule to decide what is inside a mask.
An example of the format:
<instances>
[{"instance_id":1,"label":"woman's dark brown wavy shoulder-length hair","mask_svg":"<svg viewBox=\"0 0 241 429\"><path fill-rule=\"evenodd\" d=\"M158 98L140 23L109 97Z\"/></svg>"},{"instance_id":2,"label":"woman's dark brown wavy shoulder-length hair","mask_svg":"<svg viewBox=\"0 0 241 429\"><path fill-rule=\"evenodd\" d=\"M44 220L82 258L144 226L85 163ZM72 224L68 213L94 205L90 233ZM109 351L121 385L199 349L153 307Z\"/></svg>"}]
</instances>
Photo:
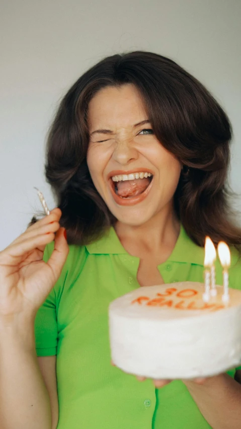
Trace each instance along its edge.
<instances>
[{"instance_id":1,"label":"woman's dark brown wavy shoulder-length hair","mask_svg":"<svg viewBox=\"0 0 241 429\"><path fill-rule=\"evenodd\" d=\"M88 105L101 89L134 84L156 138L184 165L175 210L199 246L205 236L240 250L241 229L227 184L231 124L210 92L175 61L145 51L108 56L87 70L62 99L50 127L45 174L69 244L100 237L116 219L97 192L87 166Z\"/></svg>"}]
</instances>

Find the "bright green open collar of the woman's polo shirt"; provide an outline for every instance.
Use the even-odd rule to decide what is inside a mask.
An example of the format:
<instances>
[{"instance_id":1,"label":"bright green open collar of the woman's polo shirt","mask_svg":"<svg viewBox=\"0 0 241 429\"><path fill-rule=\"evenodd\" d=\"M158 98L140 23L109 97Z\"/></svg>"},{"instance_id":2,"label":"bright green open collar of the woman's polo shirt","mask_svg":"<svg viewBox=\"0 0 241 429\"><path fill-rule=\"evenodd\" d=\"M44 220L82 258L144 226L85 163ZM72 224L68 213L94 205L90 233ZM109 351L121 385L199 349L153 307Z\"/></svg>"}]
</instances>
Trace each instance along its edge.
<instances>
[{"instance_id":1,"label":"bright green open collar of the woman's polo shirt","mask_svg":"<svg viewBox=\"0 0 241 429\"><path fill-rule=\"evenodd\" d=\"M126 254L129 253L122 246L115 229L111 227L99 240L86 246L90 254ZM232 248L231 250L231 266L234 265L238 258L238 252ZM204 248L195 244L186 233L181 224L180 233L172 254L168 261L184 262L203 265Z\"/></svg>"}]
</instances>

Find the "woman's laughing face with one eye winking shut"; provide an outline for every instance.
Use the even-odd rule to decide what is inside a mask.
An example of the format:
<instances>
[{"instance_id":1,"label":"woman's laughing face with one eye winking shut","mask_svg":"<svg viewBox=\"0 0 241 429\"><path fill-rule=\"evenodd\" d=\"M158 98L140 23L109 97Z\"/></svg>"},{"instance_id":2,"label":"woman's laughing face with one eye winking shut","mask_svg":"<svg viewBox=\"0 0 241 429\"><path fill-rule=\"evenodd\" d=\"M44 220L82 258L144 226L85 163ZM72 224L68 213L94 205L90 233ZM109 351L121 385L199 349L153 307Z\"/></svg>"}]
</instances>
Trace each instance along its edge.
<instances>
[{"instance_id":1,"label":"woman's laughing face with one eye winking shut","mask_svg":"<svg viewBox=\"0 0 241 429\"><path fill-rule=\"evenodd\" d=\"M172 210L181 172L180 162L157 140L151 124L139 124L147 120L132 84L106 87L89 103L92 180L117 220L132 226Z\"/></svg>"}]
</instances>

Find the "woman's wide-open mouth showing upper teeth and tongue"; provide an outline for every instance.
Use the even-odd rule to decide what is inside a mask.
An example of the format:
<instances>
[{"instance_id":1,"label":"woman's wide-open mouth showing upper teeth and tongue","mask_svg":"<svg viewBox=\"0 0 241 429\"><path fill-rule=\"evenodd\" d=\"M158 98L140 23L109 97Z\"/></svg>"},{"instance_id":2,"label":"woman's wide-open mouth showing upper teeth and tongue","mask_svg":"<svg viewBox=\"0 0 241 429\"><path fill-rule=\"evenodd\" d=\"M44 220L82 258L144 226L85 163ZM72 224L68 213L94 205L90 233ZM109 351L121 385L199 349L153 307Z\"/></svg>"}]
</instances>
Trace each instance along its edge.
<instances>
[{"instance_id":1,"label":"woman's wide-open mouth showing upper teeth and tongue","mask_svg":"<svg viewBox=\"0 0 241 429\"><path fill-rule=\"evenodd\" d=\"M153 175L149 171L112 176L112 195L120 204L139 202L147 195L152 179Z\"/></svg>"}]
</instances>

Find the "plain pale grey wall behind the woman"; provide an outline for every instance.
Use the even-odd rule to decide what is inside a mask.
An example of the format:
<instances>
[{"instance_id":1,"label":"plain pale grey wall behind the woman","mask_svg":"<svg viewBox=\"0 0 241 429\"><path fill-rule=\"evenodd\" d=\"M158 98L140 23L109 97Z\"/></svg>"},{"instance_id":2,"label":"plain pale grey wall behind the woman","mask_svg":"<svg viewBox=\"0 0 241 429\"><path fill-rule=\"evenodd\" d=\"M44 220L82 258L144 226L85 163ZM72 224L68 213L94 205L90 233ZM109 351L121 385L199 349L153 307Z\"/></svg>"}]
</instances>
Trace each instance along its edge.
<instances>
[{"instance_id":1,"label":"plain pale grey wall behind the woman","mask_svg":"<svg viewBox=\"0 0 241 429\"><path fill-rule=\"evenodd\" d=\"M233 125L230 182L241 193L240 0L2 0L0 15L0 250L41 208L33 186L54 207L43 165L58 101L117 52L167 55L214 94Z\"/></svg>"}]
</instances>

